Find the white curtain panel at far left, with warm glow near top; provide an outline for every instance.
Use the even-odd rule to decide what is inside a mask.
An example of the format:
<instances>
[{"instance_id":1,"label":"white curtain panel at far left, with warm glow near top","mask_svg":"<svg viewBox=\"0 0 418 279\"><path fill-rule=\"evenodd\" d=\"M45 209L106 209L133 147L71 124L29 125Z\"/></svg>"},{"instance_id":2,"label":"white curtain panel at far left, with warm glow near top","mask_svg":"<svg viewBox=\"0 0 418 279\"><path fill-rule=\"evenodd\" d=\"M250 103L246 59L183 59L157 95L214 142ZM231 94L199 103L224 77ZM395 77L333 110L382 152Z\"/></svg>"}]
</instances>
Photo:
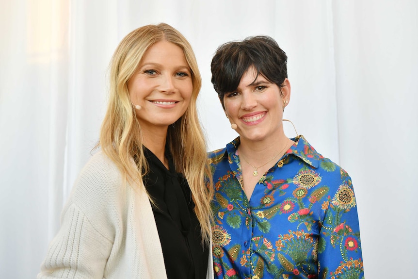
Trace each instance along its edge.
<instances>
[{"instance_id":1,"label":"white curtain panel at far left, with warm glow near top","mask_svg":"<svg viewBox=\"0 0 418 279\"><path fill-rule=\"evenodd\" d=\"M33 276L59 228L68 96L68 1L7 3L1 30L0 270ZM2 17L4 20L4 17ZM2 20L2 21L3 21ZM21 268L17 263L25 263ZM4 272L5 274L4 274Z\"/></svg>"}]
</instances>

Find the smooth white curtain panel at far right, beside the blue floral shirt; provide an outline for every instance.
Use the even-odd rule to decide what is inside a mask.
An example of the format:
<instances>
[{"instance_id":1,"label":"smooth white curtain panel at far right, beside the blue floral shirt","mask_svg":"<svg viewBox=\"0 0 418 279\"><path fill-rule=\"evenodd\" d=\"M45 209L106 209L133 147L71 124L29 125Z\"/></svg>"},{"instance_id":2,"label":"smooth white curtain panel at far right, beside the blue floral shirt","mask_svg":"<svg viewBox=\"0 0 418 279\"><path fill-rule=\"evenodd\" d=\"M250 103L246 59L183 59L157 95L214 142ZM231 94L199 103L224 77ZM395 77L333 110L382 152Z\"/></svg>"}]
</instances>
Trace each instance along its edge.
<instances>
[{"instance_id":1,"label":"smooth white curtain panel at far right, beside the blue floral shirt","mask_svg":"<svg viewBox=\"0 0 418 279\"><path fill-rule=\"evenodd\" d=\"M367 278L416 278L418 2L334 5L340 161Z\"/></svg>"}]
</instances>

